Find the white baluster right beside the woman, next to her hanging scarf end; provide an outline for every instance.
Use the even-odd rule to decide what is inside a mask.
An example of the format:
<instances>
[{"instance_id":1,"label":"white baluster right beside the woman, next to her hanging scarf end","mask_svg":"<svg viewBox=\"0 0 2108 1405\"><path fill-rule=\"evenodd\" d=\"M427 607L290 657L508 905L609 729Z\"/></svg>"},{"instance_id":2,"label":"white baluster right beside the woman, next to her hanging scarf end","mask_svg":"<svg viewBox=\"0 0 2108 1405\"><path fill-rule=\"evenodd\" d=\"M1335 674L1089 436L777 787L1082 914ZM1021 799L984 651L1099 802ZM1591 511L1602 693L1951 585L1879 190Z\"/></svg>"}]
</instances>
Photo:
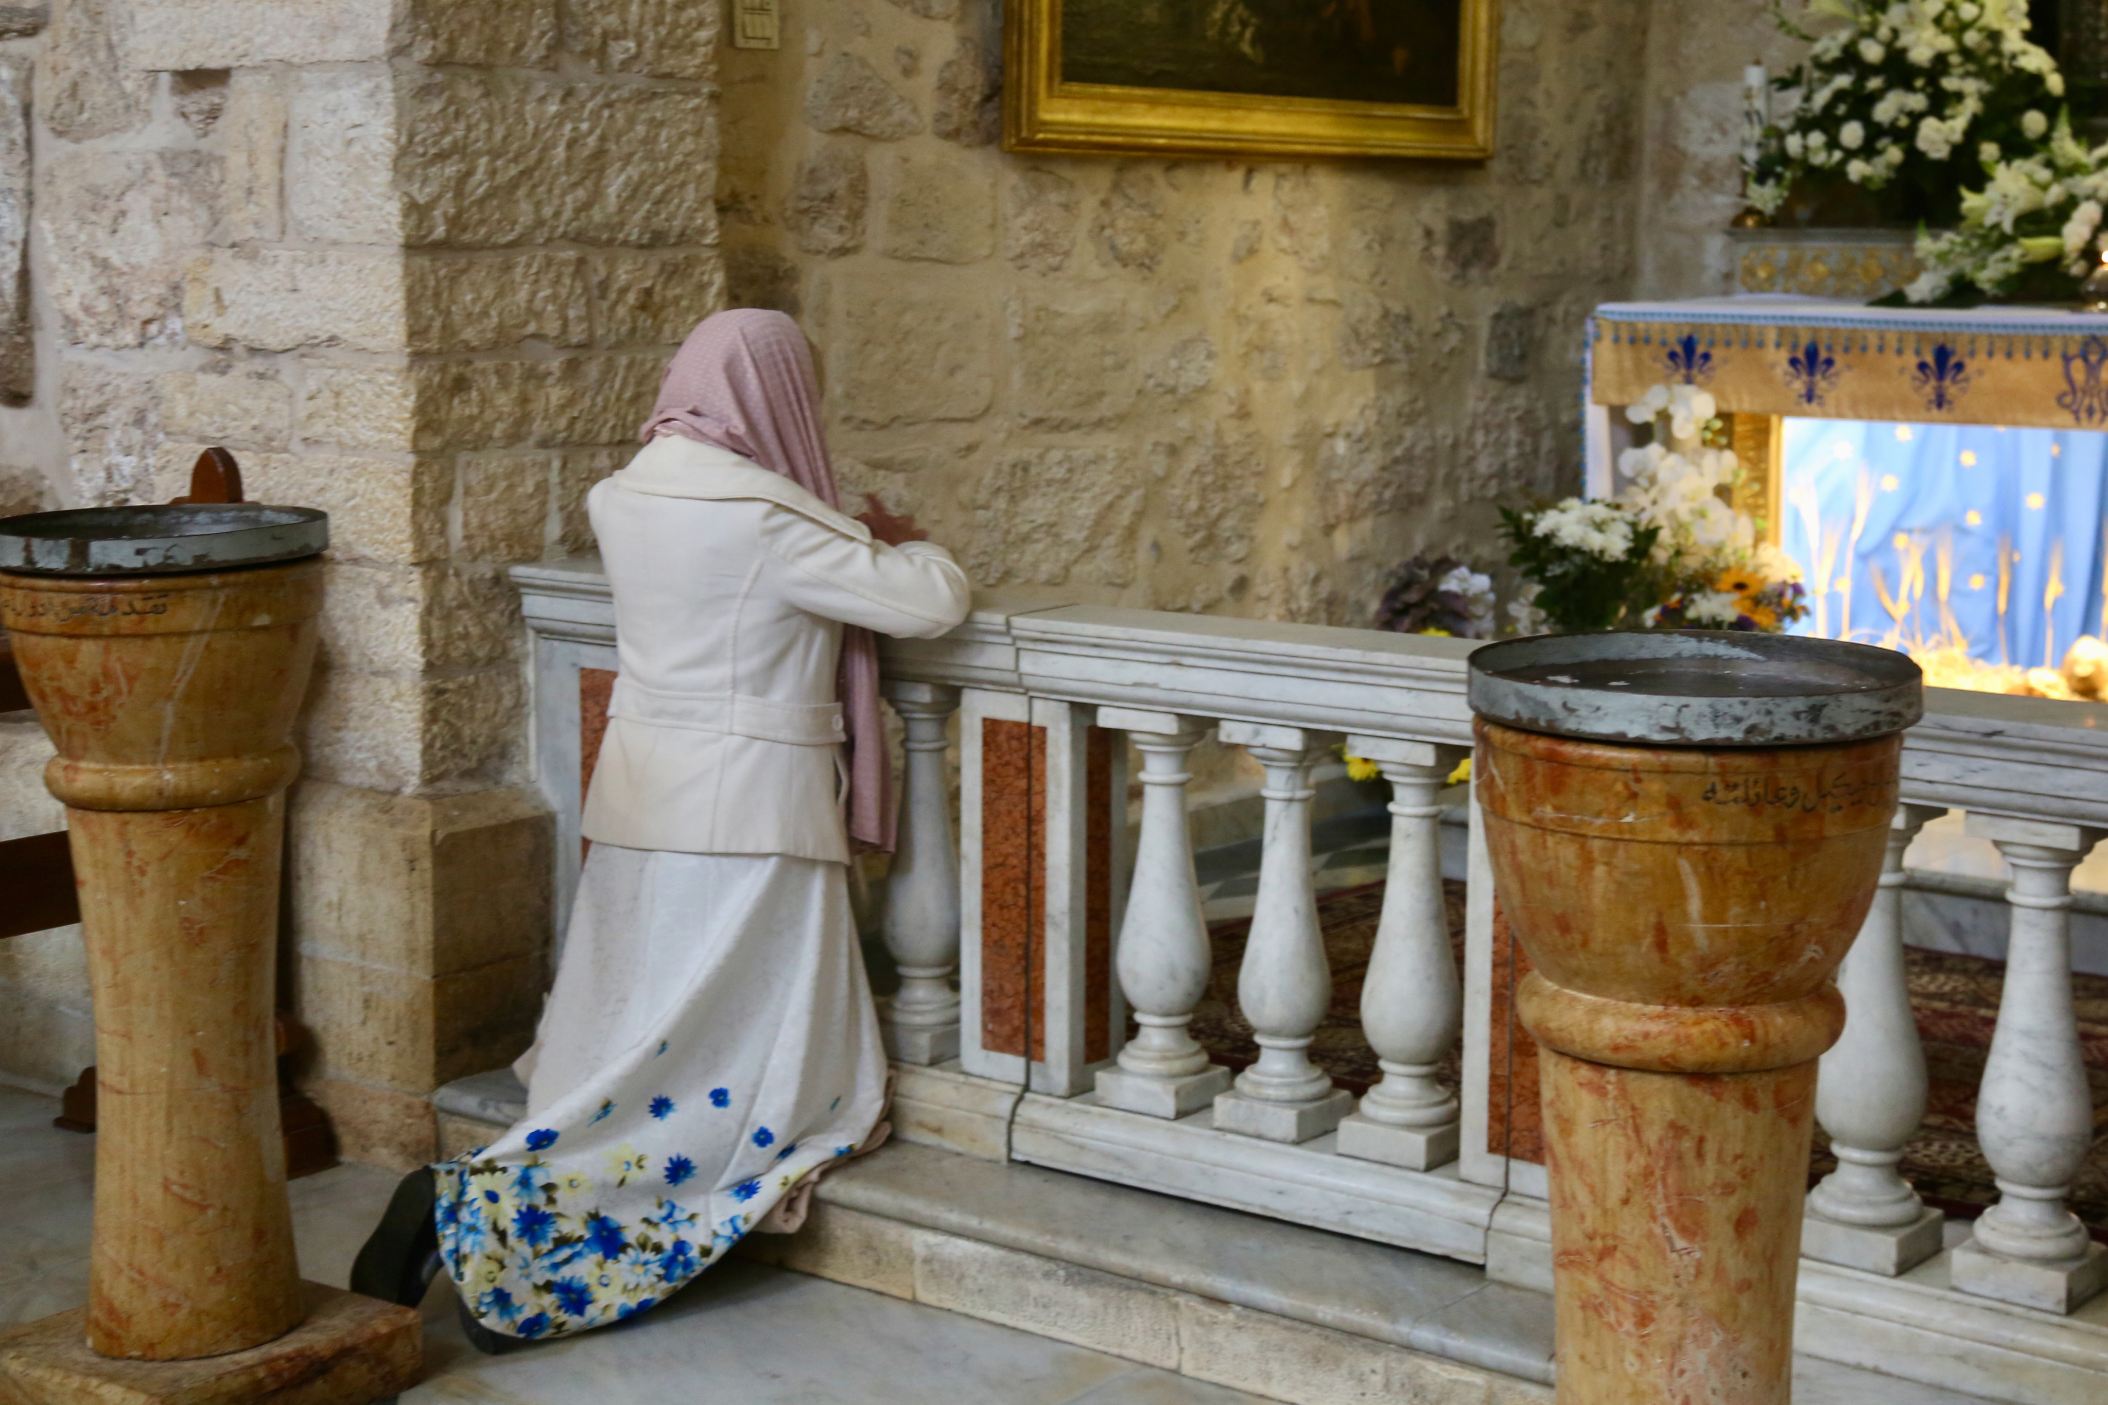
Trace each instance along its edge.
<instances>
[{"instance_id":1,"label":"white baluster right beside the woman, next to her hanging scarf end","mask_svg":"<svg viewBox=\"0 0 2108 1405\"><path fill-rule=\"evenodd\" d=\"M885 950L900 990L881 1003L879 1032L902 1064L942 1064L959 1053L959 996L949 982L959 965L959 847L944 784L944 725L959 689L885 682L883 691L906 725L906 777L885 883Z\"/></svg>"}]
</instances>

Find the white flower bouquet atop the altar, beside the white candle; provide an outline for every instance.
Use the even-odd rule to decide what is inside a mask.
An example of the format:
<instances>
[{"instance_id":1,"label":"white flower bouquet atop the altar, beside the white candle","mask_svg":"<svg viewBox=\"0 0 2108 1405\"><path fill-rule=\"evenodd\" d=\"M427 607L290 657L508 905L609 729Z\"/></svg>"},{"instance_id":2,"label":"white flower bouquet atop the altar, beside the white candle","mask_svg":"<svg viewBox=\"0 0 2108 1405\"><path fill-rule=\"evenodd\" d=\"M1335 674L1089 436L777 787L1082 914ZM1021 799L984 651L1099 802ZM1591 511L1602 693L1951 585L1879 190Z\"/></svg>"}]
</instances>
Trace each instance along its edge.
<instances>
[{"instance_id":1,"label":"white flower bouquet atop the altar, beside the white candle","mask_svg":"<svg viewBox=\"0 0 2108 1405\"><path fill-rule=\"evenodd\" d=\"M1870 200L1882 221L1952 225L1969 158L2034 154L2064 97L2057 61L2028 40L2026 0L1804 0L1804 21L1834 25L1819 36L1779 0L1773 19L1811 46L1773 84L1792 105L1745 152L1764 215L1790 198Z\"/></svg>"}]
</instances>

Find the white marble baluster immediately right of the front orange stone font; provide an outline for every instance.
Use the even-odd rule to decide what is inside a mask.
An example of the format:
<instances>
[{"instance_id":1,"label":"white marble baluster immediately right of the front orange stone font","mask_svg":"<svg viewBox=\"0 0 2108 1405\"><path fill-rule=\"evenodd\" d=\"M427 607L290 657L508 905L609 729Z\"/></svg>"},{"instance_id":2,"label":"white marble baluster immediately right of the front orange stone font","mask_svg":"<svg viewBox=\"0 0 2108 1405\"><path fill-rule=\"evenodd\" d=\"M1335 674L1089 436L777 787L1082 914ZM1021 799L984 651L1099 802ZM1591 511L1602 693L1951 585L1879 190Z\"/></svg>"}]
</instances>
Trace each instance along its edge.
<instances>
[{"instance_id":1,"label":"white marble baluster immediately right of the front orange stone font","mask_svg":"<svg viewBox=\"0 0 2108 1405\"><path fill-rule=\"evenodd\" d=\"M1904 979L1904 851L1946 811L1899 805L1866 925L1838 969L1844 1034L1823 1055L1815 1121L1838 1169L1809 1192L1800 1251L1826 1264L1889 1274L1939 1253L1946 1215L1927 1209L1895 1165L1925 1121L1925 1047Z\"/></svg>"}]
</instances>

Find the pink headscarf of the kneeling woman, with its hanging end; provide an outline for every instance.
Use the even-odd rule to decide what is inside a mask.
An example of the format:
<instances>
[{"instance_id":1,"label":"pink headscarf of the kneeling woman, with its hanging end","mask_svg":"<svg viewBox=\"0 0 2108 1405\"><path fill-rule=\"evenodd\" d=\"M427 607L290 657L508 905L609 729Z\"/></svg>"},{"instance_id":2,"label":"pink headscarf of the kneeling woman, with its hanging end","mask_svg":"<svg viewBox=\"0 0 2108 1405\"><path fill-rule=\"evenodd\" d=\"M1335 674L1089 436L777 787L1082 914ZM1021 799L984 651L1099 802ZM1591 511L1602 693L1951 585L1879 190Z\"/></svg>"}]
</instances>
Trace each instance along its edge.
<instances>
[{"instance_id":1,"label":"pink headscarf of the kneeling woman, with its hanging end","mask_svg":"<svg viewBox=\"0 0 2108 1405\"><path fill-rule=\"evenodd\" d=\"M734 308L704 318L675 352L639 438L679 434L782 474L841 508L820 430L812 348L780 312ZM894 769L879 716L879 640L843 626L839 695L850 741L850 838L894 847Z\"/></svg>"}]
</instances>

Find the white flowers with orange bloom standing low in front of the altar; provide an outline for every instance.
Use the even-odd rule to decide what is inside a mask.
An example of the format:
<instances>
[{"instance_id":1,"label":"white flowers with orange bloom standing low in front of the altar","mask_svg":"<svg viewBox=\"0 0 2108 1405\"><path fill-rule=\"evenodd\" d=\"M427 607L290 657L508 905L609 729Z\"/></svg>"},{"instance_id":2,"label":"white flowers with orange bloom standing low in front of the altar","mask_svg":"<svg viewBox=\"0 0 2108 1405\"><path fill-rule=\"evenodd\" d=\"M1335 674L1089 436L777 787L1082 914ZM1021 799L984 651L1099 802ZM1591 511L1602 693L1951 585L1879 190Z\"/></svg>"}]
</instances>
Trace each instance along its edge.
<instances>
[{"instance_id":1,"label":"white flowers with orange bloom standing low in front of the altar","mask_svg":"<svg viewBox=\"0 0 2108 1405\"><path fill-rule=\"evenodd\" d=\"M1509 565L1530 583L1514 611L1537 628L1701 628L1779 632L1809 613L1800 571L1758 522L1722 497L1741 476L1714 398L1655 385L1625 411L1655 442L1619 457L1615 499L1501 510ZM1514 609L1514 607L1511 607Z\"/></svg>"}]
</instances>

